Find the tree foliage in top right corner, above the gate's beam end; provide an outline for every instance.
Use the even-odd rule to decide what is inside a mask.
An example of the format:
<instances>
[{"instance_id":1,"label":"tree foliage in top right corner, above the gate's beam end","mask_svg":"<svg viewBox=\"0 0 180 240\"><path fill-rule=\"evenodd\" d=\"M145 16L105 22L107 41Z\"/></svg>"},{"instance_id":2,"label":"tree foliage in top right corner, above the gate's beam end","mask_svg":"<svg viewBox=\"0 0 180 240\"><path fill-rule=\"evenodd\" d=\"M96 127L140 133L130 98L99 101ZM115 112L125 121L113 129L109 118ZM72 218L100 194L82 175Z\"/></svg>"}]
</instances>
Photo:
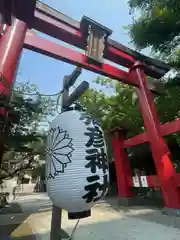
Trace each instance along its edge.
<instances>
[{"instance_id":1,"label":"tree foliage in top right corner, above the gate's beam end","mask_svg":"<svg viewBox=\"0 0 180 240\"><path fill-rule=\"evenodd\" d=\"M129 33L135 46L138 49L151 47L158 57L167 60L175 70L179 70L180 2L129 0L129 6L134 15ZM140 13L139 17L136 17L137 11Z\"/></svg>"}]
</instances>

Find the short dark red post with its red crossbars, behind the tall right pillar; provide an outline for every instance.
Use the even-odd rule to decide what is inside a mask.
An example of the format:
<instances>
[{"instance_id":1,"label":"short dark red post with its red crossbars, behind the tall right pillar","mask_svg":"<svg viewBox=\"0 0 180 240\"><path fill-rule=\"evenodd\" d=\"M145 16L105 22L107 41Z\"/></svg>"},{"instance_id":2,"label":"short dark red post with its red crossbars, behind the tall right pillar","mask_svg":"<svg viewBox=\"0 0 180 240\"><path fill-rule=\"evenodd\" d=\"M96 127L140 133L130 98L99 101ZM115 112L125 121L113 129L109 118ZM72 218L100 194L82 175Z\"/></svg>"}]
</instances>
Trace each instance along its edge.
<instances>
[{"instance_id":1,"label":"short dark red post with its red crossbars, behind the tall right pillar","mask_svg":"<svg viewBox=\"0 0 180 240\"><path fill-rule=\"evenodd\" d=\"M124 204L128 204L128 200L130 201L129 203L131 203L131 198L133 198L134 196L132 192L132 188L137 186L134 186L132 170L131 170L129 161L127 161L127 153L125 149L130 147L135 147L139 144L147 143L149 142L149 139L148 139L147 133L142 133L135 137L125 139L125 136L123 135L123 130L118 130L118 132L120 134L120 139L119 137L118 139L117 138L113 139L114 152L117 154L117 155L115 154L115 165L116 165L116 171L118 172L117 174L118 193L120 198L127 200L124 202ZM176 119L172 122L160 125L160 134L162 137L165 137L167 135L170 135L176 132L180 132L180 119ZM114 131L112 131L112 133L114 134ZM117 144L121 146L120 149L121 151L123 151L123 154L121 154L121 158L119 158L118 156L119 153L116 151ZM126 162L126 164L123 164L123 162ZM125 167L124 169L122 169L122 167L120 168L120 166L122 165ZM121 178L125 179L125 181L122 181ZM161 188L161 182L158 176L138 175L138 178L139 178L139 187ZM145 182L146 182L145 185L142 182L143 179L145 179ZM179 188L180 174L175 174L174 179L175 179L177 188Z\"/></svg>"}]
</instances>

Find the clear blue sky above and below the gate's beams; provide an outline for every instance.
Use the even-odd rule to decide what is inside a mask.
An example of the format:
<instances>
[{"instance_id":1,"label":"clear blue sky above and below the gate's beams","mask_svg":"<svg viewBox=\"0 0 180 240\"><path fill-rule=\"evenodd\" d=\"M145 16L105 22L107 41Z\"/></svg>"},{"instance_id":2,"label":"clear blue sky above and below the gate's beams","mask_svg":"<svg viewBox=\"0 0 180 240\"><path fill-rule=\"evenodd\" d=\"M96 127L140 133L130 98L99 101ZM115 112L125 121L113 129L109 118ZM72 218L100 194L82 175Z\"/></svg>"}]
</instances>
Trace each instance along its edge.
<instances>
[{"instance_id":1,"label":"clear blue sky above and below the gate's beams","mask_svg":"<svg viewBox=\"0 0 180 240\"><path fill-rule=\"evenodd\" d=\"M113 31L112 39L132 47L130 38L124 26L132 23L129 15L128 0L44 0L43 2L56 8L58 11L78 21L86 15L97 22L107 26ZM72 66L31 51L24 50L20 63L19 81L29 80L36 84L41 93L54 93L62 87L62 79L65 74L74 70ZM83 70L79 81L87 80L90 83L96 78L96 74Z\"/></svg>"}]
</instances>

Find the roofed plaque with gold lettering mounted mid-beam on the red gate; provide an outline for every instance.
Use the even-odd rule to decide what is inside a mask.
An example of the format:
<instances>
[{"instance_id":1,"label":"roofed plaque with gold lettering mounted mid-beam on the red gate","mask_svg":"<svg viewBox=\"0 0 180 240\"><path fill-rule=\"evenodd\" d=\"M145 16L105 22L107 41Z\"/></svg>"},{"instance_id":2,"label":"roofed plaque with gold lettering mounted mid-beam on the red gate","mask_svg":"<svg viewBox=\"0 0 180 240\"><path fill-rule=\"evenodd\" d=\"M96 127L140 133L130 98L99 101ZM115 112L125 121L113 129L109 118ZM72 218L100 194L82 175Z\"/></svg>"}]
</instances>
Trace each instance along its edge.
<instances>
[{"instance_id":1,"label":"roofed plaque with gold lettering mounted mid-beam on the red gate","mask_svg":"<svg viewBox=\"0 0 180 240\"><path fill-rule=\"evenodd\" d=\"M86 16L82 18L80 27L86 46L86 56L94 64L102 64L107 38L112 31Z\"/></svg>"}]
</instances>

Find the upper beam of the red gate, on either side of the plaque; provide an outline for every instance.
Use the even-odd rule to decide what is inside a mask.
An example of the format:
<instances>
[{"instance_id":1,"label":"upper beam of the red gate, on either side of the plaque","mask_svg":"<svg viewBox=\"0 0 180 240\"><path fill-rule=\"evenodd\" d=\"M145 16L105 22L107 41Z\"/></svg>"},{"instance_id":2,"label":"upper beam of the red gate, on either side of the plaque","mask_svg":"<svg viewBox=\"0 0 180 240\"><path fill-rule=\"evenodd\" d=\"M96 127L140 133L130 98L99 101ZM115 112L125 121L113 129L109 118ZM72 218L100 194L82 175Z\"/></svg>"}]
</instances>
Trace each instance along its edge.
<instances>
[{"instance_id":1,"label":"upper beam of the red gate, on either side of the plaque","mask_svg":"<svg viewBox=\"0 0 180 240\"><path fill-rule=\"evenodd\" d=\"M58 26L54 26L51 30L50 28L46 29L45 22L43 23L46 16L57 20L59 22L59 26L62 26L62 28L58 29L58 31ZM34 23L34 27L37 30L43 30L44 33L51 34L51 36L59 38L81 49L85 48L82 40L79 22L73 20L72 18L69 18L68 16L56 11L53 8L50 8L49 6L41 2L37 2L36 4L35 19L36 20ZM48 21L49 26L53 25L53 19L52 21ZM51 33L49 33L49 31L51 31ZM124 67L129 68L134 64L136 60L139 60L147 65L147 75L154 78L160 78L170 70L170 67L162 61L146 57L143 54L133 51L132 49L110 38L107 39L107 45L107 51L105 52L104 57Z\"/></svg>"}]
</instances>

